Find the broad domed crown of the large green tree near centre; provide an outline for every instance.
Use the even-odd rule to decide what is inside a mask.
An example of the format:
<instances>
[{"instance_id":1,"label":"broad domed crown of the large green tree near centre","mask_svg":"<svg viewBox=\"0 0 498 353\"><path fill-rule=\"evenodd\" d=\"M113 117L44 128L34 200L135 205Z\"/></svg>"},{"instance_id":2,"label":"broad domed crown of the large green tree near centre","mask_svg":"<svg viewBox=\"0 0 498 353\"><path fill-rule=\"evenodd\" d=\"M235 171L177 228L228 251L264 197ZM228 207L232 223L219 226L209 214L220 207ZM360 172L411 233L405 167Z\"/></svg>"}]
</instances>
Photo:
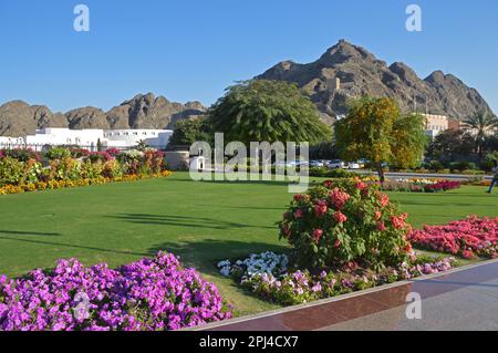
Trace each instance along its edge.
<instances>
[{"instance_id":1,"label":"broad domed crown of the large green tree near centre","mask_svg":"<svg viewBox=\"0 0 498 353\"><path fill-rule=\"evenodd\" d=\"M226 141L309 142L331 138L331 128L320 121L315 105L286 82L252 80L227 89L208 113L214 132Z\"/></svg>"}]
</instances>

